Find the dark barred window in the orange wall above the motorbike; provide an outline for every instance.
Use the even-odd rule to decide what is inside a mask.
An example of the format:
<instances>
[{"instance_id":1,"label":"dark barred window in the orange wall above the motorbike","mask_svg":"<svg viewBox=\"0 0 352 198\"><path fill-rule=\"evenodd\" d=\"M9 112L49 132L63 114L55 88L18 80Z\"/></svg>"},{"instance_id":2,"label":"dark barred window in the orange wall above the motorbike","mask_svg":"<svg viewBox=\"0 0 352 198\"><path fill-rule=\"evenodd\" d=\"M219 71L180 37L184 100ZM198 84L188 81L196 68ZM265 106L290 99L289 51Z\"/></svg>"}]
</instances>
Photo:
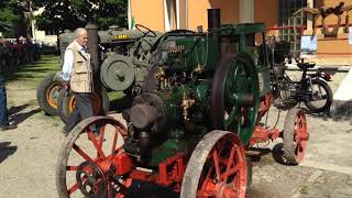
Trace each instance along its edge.
<instances>
[{"instance_id":1,"label":"dark barred window in the orange wall above the motorbike","mask_svg":"<svg viewBox=\"0 0 352 198\"><path fill-rule=\"evenodd\" d=\"M305 13L300 13L295 19L292 18L293 13L296 12L300 8L307 7L307 0L279 0L279 9L278 9L278 24L279 26L300 26L307 25L307 15ZM295 24L296 20L296 24ZM290 42L290 51L294 56L299 55L300 50L300 30L279 30L279 38L282 41Z\"/></svg>"}]
</instances>

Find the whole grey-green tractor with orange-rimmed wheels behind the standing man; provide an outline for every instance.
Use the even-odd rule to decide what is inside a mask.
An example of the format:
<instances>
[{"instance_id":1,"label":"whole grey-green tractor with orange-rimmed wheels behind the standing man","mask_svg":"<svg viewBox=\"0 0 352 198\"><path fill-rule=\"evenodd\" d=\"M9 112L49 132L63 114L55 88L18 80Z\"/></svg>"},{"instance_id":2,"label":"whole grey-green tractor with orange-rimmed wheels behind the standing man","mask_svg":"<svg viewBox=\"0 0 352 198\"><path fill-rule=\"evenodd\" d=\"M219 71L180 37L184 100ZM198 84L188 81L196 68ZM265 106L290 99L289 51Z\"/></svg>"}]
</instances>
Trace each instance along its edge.
<instances>
[{"instance_id":1,"label":"whole grey-green tractor with orange-rimmed wheels behind the standing man","mask_svg":"<svg viewBox=\"0 0 352 198\"><path fill-rule=\"evenodd\" d=\"M107 90L125 91L140 89L147 73L146 55L160 33L136 25L138 30L120 30L111 26L109 31L98 32L99 50L95 57L98 59L96 84L100 86L98 92L92 95L95 111L107 112L109 98ZM144 30L147 31L144 31ZM66 31L59 36L62 59L67 45L74 40L74 33ZM91 40L90 40L91 41ZM98 44L95 44L98 46ZM102 61L101 65L100 62ZM37 88L37 101L41 109L47 114L59 114L65 122L74 109L75 100L72 92L61 94L61 73L51 74L42 80ZM97 100L99 99L99 100ZM57 108L62 107L59 110Z\"/></svg>"}]
</instances>

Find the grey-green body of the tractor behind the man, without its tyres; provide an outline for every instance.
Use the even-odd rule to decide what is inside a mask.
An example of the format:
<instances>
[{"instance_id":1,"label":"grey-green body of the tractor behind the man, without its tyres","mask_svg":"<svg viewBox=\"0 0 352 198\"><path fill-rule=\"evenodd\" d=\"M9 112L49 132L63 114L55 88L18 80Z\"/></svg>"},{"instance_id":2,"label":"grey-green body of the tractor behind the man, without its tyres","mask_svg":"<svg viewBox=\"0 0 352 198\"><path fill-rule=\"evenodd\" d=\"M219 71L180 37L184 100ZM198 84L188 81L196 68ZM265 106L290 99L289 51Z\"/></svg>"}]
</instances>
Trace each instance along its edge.
<instances>
[{"instance_id":1,"label":"grey-green body of the tractor behind the man, without its tyres","mask_svg":"<svg viewBox=\"0 0 352 198\"><path fill-rule=\"evenodd\" d=\"M156 32L154 37L139 30L119 30L110 28L98 31L100 52L100 80L108 90L132 91L141 87L147 73L151 47L162 35ZM66 47L75 38L73 32L59 35L61 57L63 61ZM140 88L136 88L140 89Z\"/></svg>"}]
</instances>

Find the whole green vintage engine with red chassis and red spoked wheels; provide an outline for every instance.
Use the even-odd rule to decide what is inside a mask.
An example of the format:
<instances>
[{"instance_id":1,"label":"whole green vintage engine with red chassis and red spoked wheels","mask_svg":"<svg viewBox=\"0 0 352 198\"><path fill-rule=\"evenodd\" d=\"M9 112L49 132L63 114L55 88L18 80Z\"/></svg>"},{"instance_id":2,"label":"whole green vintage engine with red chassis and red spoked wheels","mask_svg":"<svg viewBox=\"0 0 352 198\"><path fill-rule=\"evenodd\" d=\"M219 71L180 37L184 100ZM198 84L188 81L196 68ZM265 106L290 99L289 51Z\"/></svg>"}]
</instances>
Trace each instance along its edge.
<instances>
[{"instance_id":1,"label":"whole green vintage engine with red chassis and red spoked wheels","mask_svg":"<svg viewBox=\"0 0 352 198\"><path fill-rule=\"evenodd\" d=\"M245 151L256 142L283 138L287 161L301 161L304 111L288 112L284 132L260 122L273 102L271 67L254 51L264 24L220 25L218 9L208 15L205 33L161 37L142 94L123 112L127 127L95 117L68 134L56 167L61 198L146 197L133 190L141 182L183 198L243 198Z\"/></svg>"}]
</instances>

